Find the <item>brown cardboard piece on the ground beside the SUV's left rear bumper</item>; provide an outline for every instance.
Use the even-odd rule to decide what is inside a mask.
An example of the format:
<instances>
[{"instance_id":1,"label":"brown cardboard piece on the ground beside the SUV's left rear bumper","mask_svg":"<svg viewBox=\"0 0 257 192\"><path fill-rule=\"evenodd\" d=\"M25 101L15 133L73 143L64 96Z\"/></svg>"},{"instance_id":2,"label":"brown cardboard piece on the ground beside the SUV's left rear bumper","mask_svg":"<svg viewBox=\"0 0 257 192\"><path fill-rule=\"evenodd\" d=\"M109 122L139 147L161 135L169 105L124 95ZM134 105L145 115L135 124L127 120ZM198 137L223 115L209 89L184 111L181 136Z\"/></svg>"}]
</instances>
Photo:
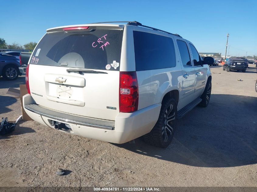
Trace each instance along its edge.
<instances>
[{"instance_id":1,"label":"brown cardboard piece on the ground beside the SUV's left rear bumper","mask_svg":"<svg viewBox=\"0 0 257 192\"><path fill-rule=\"evenodd\" d=\"M25 112L25 110L23 109L23 101L22 101L22 97L24 95L26 95L28 93L28 90L26 88L26 85L20 85L20 90L19 89L14 89L12 87L10 87L7 91L7 94L10 95L14 95L20 98L20 104L21 104L21 113L22 113L22 119L24 121L31 121L33 119L30 118L30 116L28 116L28 114Z\"/></svg>"}]
</instances>

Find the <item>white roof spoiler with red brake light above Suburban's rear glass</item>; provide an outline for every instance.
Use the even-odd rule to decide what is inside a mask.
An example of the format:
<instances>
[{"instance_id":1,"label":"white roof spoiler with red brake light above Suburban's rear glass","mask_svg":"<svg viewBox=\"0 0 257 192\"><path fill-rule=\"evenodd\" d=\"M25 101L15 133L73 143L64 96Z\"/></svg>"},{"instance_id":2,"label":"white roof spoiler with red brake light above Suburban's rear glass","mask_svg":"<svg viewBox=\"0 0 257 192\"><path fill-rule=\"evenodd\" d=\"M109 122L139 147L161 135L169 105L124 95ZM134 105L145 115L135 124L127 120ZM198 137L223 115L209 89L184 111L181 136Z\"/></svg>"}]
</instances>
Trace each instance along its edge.
<instances>
[{"instance_id":1,"label":"white roof spoiler with red brake light above Suburban's rear glass","mask_svg":"<svg viewBox=\"0 0 257 192\"><path fill-rule=\"evenodd\" d=\"M70 26L62 26L57 28L47 29L47 33L50 32L89 32L94 29L123 29L124 25L92 25L92 24L85 24L85 25L70 25Z\"/></svg>"}]
</instances>

